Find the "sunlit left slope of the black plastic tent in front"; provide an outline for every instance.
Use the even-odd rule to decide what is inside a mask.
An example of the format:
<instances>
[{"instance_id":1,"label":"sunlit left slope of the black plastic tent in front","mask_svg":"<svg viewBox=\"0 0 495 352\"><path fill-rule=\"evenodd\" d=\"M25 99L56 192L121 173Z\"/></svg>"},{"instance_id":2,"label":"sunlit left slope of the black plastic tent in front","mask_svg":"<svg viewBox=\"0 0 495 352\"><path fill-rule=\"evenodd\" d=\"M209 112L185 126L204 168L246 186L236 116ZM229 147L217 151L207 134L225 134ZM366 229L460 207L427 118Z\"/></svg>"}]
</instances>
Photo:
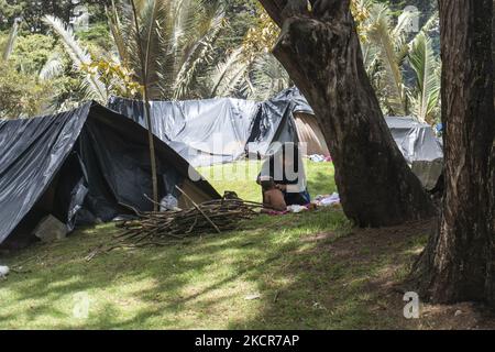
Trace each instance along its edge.
<instances>
[{"instance_id":1,"label":"sunlit left slope of the black plastic tent in front","mask_svg":"<svg viewBox=\"0 0 495 352\"><path fill-rule=\"evenodd\" d=\"M68 157L89 106L42 119L0 121L0 243L40 200Z\"/></svg>"}]
</instances>

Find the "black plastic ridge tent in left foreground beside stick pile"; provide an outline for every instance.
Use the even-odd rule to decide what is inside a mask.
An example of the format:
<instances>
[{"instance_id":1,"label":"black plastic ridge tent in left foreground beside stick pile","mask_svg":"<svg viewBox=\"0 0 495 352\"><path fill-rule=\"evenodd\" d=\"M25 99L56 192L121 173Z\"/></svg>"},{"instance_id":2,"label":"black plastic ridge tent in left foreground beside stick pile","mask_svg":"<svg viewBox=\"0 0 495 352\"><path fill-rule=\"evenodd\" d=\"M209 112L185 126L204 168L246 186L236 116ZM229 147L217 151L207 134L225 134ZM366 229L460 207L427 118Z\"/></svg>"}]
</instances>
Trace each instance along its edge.
<instances>
[{"instance_id":1,"label":"black plastic ridge tent in left foreground beside stick pile","mask_svg":"<svg viewBox=\"0 0 495 352\"><path fill-rule=\"evenodd\" d=\"M169 146L155 139L155 147L161 197L184 206L176 185L197 202L220 197ZM29 234L46 215L73 228L153 208L146 130L96 102L0 120L0 244Z\"/></svg>"}]
</instances>

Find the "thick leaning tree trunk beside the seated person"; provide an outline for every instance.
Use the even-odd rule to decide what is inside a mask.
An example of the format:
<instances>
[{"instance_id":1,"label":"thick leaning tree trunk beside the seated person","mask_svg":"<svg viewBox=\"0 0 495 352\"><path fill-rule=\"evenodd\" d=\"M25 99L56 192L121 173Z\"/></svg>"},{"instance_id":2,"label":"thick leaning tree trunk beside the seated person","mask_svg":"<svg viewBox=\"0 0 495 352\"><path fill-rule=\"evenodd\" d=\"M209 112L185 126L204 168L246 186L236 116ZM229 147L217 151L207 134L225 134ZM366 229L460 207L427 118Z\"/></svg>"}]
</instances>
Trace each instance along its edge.
<instances>
[{"instance_id":1,"label":"thick leaning tree trunk beside the seated person","mask_svg":"<svg viewBox=\"0 0 495 352\"><path fill-rule=\"evenodd\" d=\"M430 218L435 209L395 144L366 76L350 0L260 0L282 28L274 55L323 131L345 215L361 227Z\"/></svg>"}]
</instances>

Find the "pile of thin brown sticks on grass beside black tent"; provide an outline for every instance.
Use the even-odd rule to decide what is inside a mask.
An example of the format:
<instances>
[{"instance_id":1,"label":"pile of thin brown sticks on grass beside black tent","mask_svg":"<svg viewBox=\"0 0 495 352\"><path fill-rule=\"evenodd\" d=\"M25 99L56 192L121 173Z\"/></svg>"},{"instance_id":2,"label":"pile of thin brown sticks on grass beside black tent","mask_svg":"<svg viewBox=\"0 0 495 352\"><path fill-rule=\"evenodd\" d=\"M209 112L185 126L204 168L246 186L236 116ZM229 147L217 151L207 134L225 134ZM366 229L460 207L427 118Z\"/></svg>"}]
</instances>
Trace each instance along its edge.
<instances>
[{"instance_id":1,"label":"pile of thin brown sticks on grass beside black tent","mask_svg":"<svg viewBox=\"0 0 495 352\"><path fill-rule=\"evenodd\" d=\"M140 213L135 220L122 221L118 224L122 231L114 237L113 243L94 250L86 260L90 261L99 253L119 248L165 245L168 240L231 231L238 228L240 220L252 219L263 208L262 204L230 198L227 194L222 199L200 205L186 194L183 195L193 204L191 208L145 212Z\"/></svg>"}]
</instances>

